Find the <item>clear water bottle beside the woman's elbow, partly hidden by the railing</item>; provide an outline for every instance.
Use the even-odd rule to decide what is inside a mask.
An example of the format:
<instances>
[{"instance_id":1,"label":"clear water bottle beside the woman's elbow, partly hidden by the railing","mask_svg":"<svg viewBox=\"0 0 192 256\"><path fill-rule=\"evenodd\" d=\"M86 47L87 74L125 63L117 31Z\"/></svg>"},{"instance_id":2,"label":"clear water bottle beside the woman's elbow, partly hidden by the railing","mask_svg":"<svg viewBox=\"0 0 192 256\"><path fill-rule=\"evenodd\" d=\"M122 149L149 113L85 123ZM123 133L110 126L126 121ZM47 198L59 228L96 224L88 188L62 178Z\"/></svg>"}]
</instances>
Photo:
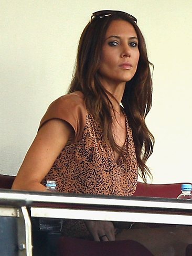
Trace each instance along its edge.
<instances>
[{"instance_id":1,"label":"clear water bottle beside the woman's elbow, partly hidden by the railing","mask_svg":"<svg viewBox=\"0 0 192 256\"><path fill-rule=\"evenodd\" d=\"M46 190L51 193L57 192L55 180L47 180ZM41 231L60 233L62 229L62 219L58 218L40 218L39 228Z\"/></svg>"}]
</instances>

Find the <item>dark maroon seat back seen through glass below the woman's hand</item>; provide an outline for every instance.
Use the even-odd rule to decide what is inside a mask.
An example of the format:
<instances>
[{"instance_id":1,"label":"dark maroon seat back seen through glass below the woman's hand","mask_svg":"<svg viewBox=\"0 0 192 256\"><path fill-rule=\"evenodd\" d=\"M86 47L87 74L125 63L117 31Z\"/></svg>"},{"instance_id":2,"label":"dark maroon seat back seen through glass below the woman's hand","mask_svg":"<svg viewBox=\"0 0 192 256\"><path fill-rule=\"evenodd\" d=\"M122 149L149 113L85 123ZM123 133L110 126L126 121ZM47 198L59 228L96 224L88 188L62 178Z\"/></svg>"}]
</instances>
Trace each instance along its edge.
<instances>
[{"instance_id":1,"label":"dark maroon seat back seen through glass below the woman's hand","mask_svg":"<svg viewBox=\"0 0 192 256\"><path fill-rule=\"evenodd\" d=\"M132 240L95 242L61 237L58 256L153 256L142 244Z\"/></svg>"}]
</instances>

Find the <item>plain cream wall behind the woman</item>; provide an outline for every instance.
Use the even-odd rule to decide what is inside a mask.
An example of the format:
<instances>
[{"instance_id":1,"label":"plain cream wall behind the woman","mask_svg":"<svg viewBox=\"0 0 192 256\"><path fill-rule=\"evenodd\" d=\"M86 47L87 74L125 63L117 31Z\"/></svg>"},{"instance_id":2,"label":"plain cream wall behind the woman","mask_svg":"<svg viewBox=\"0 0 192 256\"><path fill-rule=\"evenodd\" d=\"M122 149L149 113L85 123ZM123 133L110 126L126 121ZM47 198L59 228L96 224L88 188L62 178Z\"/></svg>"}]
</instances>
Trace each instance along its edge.
<instances>
[{"instance_id":1,"label":"plain cream wall behind the woman","mask_svg":"<svg viewBox=\"0 0 192 256\"><path fill-rule=\"evenodd\" d=\"M137 17L154 63L153 183L191 182L189 0L1 0L0 173L16 175L48 105L66 93L80 34L100 9Z\"/></svg>"}]
</instances>

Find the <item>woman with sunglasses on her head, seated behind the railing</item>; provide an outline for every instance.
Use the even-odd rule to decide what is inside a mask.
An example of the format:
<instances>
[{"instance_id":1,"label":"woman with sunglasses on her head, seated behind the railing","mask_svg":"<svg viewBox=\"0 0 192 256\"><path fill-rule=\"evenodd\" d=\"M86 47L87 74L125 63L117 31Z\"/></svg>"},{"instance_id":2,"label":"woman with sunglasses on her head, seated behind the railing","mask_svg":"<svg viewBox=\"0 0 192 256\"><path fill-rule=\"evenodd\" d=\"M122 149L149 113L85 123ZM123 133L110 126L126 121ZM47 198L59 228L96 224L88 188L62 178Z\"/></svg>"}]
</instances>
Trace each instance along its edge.
<instances>
[{"instance_id":1,"label":"woman with sunglasses on her head, seated behind the railing","mask_svg":"<svg viewBox=\"0 0 192 256\"><path fill-rule=\"evenodd\" d=\"M69 92L42 118L13 189L45 191L46 180L54 179L60 192L133 195L138 172L144 182L151 174L146 161L154 137L145 124L150 64L136 18L113 10L92 14ZM69 220L64 226L67 236L91 234L95 241L131 236L122 237L110 221Z\"/></svg>"}]
</instances>

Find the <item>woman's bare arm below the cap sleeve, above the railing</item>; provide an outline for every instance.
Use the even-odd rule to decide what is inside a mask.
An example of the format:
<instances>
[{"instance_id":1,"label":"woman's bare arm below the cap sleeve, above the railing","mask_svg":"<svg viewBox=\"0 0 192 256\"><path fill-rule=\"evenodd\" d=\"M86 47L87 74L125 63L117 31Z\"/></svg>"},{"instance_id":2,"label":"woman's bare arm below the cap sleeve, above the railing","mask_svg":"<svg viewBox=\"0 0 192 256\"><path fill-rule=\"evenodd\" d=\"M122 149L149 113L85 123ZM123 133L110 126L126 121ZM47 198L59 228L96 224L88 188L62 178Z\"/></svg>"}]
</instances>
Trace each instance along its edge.
<instances>
[{"instance_id":1,"label":"woman's bare arm below the cap sleeve, above the railing","mask_svg":"<svg viewBox=\"0 0 192 256\"><path fill-rule=\"evenodd\" d=\"M72 134L72 127L65 121L53 119L45 123L28 150L12 189L45 191L41 180Z\"/></svg>"}]
</instances>

